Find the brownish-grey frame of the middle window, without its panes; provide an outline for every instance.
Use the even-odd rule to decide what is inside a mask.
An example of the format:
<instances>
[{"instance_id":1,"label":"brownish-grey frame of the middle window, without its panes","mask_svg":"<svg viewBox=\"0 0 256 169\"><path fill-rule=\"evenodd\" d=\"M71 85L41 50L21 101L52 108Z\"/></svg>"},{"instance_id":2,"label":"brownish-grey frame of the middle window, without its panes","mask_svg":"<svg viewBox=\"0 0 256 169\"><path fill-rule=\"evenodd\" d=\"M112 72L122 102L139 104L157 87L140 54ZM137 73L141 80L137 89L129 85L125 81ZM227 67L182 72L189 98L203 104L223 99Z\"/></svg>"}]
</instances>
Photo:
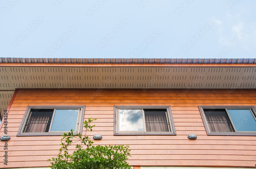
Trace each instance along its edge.
<instances>
[{"instance_id":1,"label":"brownish-grey frame of the middle window, without its panes","mask_svg":"<svg viewBox=\"0 0 256 169\"><path fill-rule=\"evenodd\" d=\"M138 131L118 131L119 116L118 109L165 109L167 115L167 122L169 126L169 132L138 132ZM143 121L145 117L143 114ZM144 123L144 122L143 122ZM145 124L144 124L145 125ZM145 126L144 126L145 127ZM114 135L176 135L176 130L173 122L173 116L170 106L114 106Z\"/></svg>"}]
</instances>

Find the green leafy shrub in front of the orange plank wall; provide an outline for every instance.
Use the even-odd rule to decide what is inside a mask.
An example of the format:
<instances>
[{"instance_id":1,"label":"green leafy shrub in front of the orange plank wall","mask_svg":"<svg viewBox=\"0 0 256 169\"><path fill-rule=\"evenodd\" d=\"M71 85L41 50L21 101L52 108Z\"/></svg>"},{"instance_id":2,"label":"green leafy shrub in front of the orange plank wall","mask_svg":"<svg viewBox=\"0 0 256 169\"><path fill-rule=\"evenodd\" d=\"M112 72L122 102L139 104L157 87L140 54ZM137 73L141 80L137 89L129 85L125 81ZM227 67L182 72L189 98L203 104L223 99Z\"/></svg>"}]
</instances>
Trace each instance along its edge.
<instances>
[{"instance_id":1,"label":"green leafy shrub in front of the orange plank wall","mask_svg":"<svg viewBox=\"0 0 256 169\"><path fill-rule=\"evenodd\" d=\"M96 119L89 118L88 121L84 121L85 131L92 131L90 125ZM89 136L78 133L73 134L73 130L62 135L61 144L57 158L48 159L51 161L50 167L52 169L108 169L108 168L124 168L130 169L131 167L126 162L127 156L130 156L129 146L125 145L109 145L109 146L92 146L94 143L90 140ZM77 138L80 143L76 145L76 150L73 154L69 154L68 148L73 143L72 139ZM65 142L64 142L65 141Z\"/></svg>"}]
</instances>

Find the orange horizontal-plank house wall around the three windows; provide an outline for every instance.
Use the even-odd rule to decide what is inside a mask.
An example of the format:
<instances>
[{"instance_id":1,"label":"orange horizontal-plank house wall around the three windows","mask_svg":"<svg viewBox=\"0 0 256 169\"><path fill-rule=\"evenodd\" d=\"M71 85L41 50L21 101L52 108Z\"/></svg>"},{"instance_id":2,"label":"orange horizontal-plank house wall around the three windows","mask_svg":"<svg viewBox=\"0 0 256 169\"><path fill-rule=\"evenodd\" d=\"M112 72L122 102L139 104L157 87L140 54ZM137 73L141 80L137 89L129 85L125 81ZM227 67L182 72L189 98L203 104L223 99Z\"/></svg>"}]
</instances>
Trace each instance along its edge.
<instances>
[{"instance_id":1,"label":"orange horizontal-plank house wall around the three windows","mask_svg":"<svg viewBox=\"0 0 256 169\"><path fill-rule=\"evenodd\" d=\"M56 157L61 136L19 136L28 105L85 105L84 120L96 118L95 144L130 145L131 166L254 167L255 136L207 136L199 105L255 106L256 90L79 90L19 89L8 111L8 165L0 142L0 168L45 167ZM177 135L113 136L114 105L170 105ZM2 126L3 123L1 123ZM0 135L4 135L4 125ZM196 134L189 140L188 134Z\"/></svg>"}]
</instances>

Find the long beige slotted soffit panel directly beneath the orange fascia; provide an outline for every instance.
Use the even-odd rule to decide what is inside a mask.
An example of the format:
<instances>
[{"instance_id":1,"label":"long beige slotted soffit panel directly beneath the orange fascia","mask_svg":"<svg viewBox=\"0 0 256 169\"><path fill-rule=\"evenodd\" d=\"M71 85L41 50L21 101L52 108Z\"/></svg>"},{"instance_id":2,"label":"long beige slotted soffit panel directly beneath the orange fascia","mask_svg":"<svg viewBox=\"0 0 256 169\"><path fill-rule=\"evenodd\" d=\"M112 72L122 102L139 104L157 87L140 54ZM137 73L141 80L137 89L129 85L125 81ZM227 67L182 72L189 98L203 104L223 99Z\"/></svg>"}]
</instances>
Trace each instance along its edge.
<instances>
[{"instance_id":1,"label":"long beige slotted soffit panel directly beneath the orange fascia","mask_svg":"<svg viewBox=\"0 0 256 169\"><path fill-rule=\"evenodd\" d=\"M255 89L255 67L0 67L15 88Z\"/></svg>"}]
</instances>

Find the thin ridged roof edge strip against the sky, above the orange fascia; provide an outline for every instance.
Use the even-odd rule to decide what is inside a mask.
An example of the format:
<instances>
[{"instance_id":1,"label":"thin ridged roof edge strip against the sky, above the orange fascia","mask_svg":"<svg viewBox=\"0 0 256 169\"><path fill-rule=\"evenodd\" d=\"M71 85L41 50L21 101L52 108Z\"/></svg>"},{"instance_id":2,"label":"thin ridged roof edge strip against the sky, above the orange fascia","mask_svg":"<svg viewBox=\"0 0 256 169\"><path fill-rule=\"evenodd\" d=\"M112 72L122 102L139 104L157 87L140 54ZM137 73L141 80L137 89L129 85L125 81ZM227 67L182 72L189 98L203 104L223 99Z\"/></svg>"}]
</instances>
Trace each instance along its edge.
<instances>
[{"instance_id":1,"label":"thin ridged roof edge strip against the sky, above the orange fascia","mask_svg":"<svg viewBox=\"0 0 256 169\"><path fill-rule=\"evenodd\" d=\"M256 63L256 59L0 58L0 63Z\"/></svg>"}]
</instances>

